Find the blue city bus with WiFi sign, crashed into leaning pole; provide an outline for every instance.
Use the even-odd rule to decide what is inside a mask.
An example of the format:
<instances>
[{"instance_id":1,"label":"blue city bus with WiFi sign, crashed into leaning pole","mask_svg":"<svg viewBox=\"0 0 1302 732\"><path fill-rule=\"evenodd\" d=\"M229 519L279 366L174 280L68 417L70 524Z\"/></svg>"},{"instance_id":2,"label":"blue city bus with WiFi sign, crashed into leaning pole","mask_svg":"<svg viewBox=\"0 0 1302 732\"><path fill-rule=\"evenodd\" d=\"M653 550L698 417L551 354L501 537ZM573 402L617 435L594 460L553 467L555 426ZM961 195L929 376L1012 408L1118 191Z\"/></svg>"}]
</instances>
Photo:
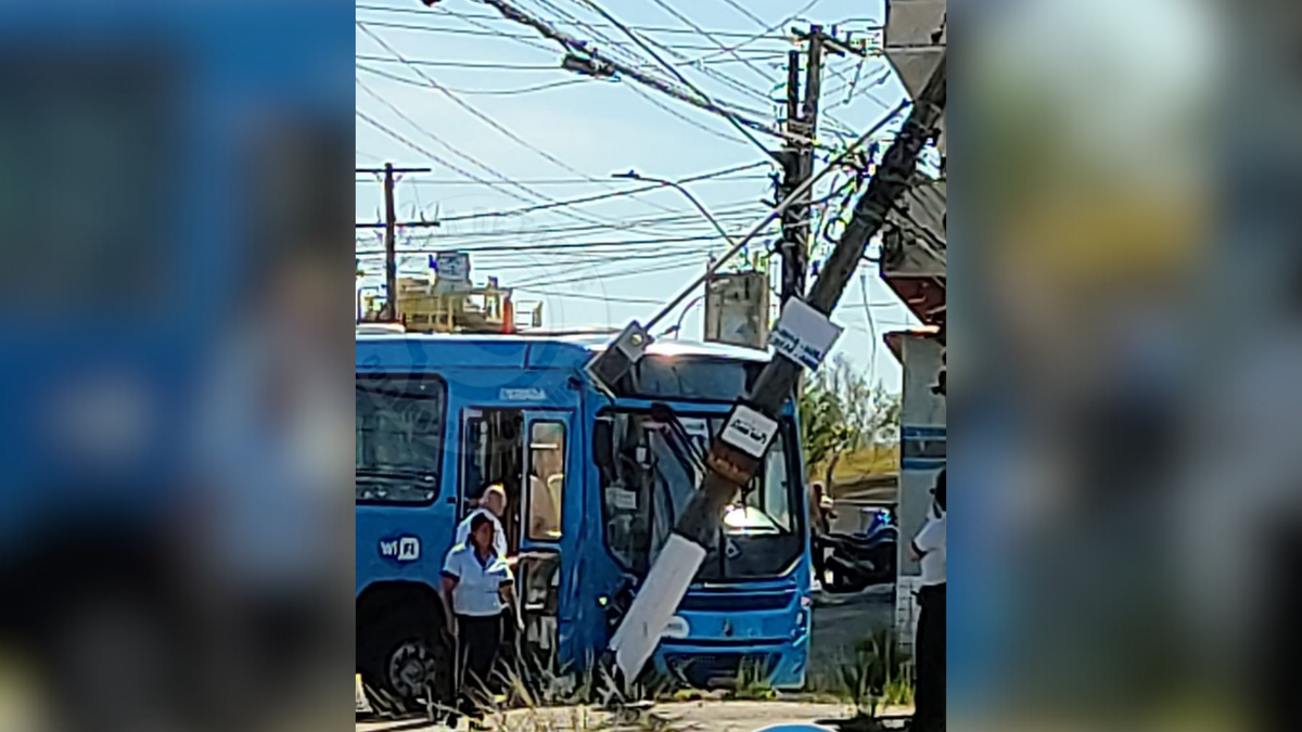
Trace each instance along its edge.
<instances>
[{"instance_id":1,"label":"blue city bus with WiFi sign, crashed into leaning pole","mask_svg":"<svg viewBox=\"0 0 1302 732\"><path fill-rule=\"evenodd\" d=\"M656 343L611 396L583 370L608 337L357 337L357 658L411 698L447 672L436 595L453 526L490 485L518 552L523 647L579 669L605 647L690 500L708 439L767 362ZM799 688L810 638L807 507L788 410L729 508L655 668L681 684L740 675Z\"/></svg>"}]
</instances>

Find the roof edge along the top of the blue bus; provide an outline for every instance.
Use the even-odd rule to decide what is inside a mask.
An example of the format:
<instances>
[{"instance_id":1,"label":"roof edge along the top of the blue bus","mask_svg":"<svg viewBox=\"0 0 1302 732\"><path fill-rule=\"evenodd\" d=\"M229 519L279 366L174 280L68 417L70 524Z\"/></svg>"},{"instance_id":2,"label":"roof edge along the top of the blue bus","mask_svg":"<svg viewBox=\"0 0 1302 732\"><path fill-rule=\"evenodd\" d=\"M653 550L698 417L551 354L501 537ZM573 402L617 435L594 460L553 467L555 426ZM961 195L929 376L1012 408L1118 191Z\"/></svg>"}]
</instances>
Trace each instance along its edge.
<instances>
[{"instance_id":1,"label":"roof edge along the top of the blue bus","mask_svg":"<svg viewBox=\"0 0 1302 732\"><path fill-rule=\"evenodd\" d=\"M380 363L411 363L422 358L430 366L479 367L582 367L592 354L605 350L612 333L575 335L460 335L460 333L393 333L375 330L357 332L357 359L363 352L379 357ZM413 352L413 348L419 349ZM769 352L719 343L660 340L647 349L651 356L667 358L719 358L763 363ZM388 356L392 354L392 356Z\"/></svg>"}]
</instances>

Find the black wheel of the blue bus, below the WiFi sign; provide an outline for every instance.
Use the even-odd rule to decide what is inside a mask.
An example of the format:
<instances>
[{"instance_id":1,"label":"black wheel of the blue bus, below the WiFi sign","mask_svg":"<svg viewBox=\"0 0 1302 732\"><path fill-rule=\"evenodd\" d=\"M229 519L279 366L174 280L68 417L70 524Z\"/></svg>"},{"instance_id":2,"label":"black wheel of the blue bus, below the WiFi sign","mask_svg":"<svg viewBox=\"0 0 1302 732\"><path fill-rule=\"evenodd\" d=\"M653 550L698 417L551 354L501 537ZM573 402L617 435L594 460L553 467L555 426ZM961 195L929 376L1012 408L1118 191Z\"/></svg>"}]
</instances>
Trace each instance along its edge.
<instances>
[{"instance_id":1,"label":"black wheel of the blue bus, below the WiFi sign","mask_svg":"<svg viewBox=\"0 0 1302 732\"><path fill-rule=\"evenodd\" d=\"M449 701L452 653L440 641L434 619L413 613L387 617L366 633L362 645L362 677L372 688L392 694L406 707L418 701Z\"/></svg>"}]
</instances>

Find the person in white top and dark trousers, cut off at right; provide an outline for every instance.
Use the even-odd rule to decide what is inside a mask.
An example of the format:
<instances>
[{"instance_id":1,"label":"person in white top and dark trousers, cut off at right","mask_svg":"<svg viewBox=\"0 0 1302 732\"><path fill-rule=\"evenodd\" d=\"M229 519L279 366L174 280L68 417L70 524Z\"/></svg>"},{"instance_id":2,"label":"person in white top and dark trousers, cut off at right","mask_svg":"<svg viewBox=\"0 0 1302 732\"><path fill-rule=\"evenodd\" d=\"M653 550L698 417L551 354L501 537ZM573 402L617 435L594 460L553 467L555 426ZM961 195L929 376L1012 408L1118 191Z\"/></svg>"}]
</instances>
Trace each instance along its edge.
<instances>
[{"instance_id":1,"label":"person in white top and dark trousers, cut off at right","mask_svg":"<svg viewBox=\"0 0 1302 732\"><path fill-rule=\"evenodd\" d=\"M927 524L913 539L913 554L922 563L918 604L918 636L914 642L918 683L910 732L945 728L945 470L936 475L935 496Z\"/></svg>"}]
</instances>

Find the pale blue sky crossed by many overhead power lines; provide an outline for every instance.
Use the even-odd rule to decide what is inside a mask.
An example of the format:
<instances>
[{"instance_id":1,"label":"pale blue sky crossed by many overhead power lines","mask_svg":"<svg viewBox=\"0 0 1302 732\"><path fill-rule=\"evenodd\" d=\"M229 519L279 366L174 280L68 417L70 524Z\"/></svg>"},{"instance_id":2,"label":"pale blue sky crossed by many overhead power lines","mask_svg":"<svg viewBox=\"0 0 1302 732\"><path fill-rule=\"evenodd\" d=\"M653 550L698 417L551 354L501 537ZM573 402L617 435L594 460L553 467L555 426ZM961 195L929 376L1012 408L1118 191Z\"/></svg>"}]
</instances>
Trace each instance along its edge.
<instances>
[{"instance_id":1,"label":"pale blue sky crossed by many overhead power lines","mask_svg":"<svg viewBox=\"0 0 1302 732\"><path fill-rule=\"evenodd\" d=\"M572 21L559 27L592 40L620 60L652 63L628 36L577 0L517 4L548 21ZM661 5L715 33L715 39L695 34ZM842 33L862 35L884 18L880 0L605 0L603 7L626 25L646 27L647 38L669 47L656 48L667 60L703 57L699 66L684 65L680 70L715 99L745 107L763 120L776 120L780 112L769 98L784 95L786 51L792 44L776 33L743 43L750 35L806 7L801 21L788 22L784 29L809 22L840 23ZM644 185L609 178L611 173L629 169L677 180L764 163L763 152L725 120L634 82L595 81L561 70L556 68L562 55L559 46L499 18L477 0L443 0L435 9L426 9L419 0L368 0L358 3L357 17L408 61L432 63L398 63L391 49L361 29L357 31L357 109L387 129L357 119L358 167L392 162L432 168L432 173L413 175L398 184L401 219L479 215L448 221L439 229L409 229L400 234L400 247L473 251L473 277L483 281L495 275L503 285L517 288L517 301L540 301L548 327L620 327L634 318L644 322L659 310L655 302L669 300L700 275L708 253L727 249L719 238L711 238L715 231L708 221L672 189L525 215L483 216ZM719 43L741 46L734 56L720 49ZM519 68L473 68L483 64ZM855 95L850 98L850 82L857 74ZM431 79L448 94L434 89ZM904 94L881 56L862 61L862 68L855 57L832 57L823 90L819 139L824 142L836 142L836 132L844 137L868 129ZM775 138L762 139L776 147ZM772 195L767 180L772 169L762 164L689 188L729 232L741 233L764 214L762 201ZM483 185L467 175L495 185ZM504 185L503 178L518 185ZM824 185L818 194L827 191ZM378 221L381 211L379 181L358 176L358 220ZM760 237L750 254L762 253L772 240ZM359 229L359 249L379 246L375 232ZM819 245L814 258L825 251L825 245ZM362 267L371 274L363 284L380 283L380 259L363 257ZM413 255L404 271L423 267L424 257ZM865 263L861 274L866 277L854 277L833 317L845 327L837 352L871 371L888 389L898 391L900 367L880 344L880 335L915 320L872 264ZM867 293L861 281L867 283ZM868 335L865 300L878 333L876 349ZM676 319L677 313L669 323ZM697 306L684 319L682 337L699 337L700 322L702 309Z\"/></svg>"}]
</instances>

